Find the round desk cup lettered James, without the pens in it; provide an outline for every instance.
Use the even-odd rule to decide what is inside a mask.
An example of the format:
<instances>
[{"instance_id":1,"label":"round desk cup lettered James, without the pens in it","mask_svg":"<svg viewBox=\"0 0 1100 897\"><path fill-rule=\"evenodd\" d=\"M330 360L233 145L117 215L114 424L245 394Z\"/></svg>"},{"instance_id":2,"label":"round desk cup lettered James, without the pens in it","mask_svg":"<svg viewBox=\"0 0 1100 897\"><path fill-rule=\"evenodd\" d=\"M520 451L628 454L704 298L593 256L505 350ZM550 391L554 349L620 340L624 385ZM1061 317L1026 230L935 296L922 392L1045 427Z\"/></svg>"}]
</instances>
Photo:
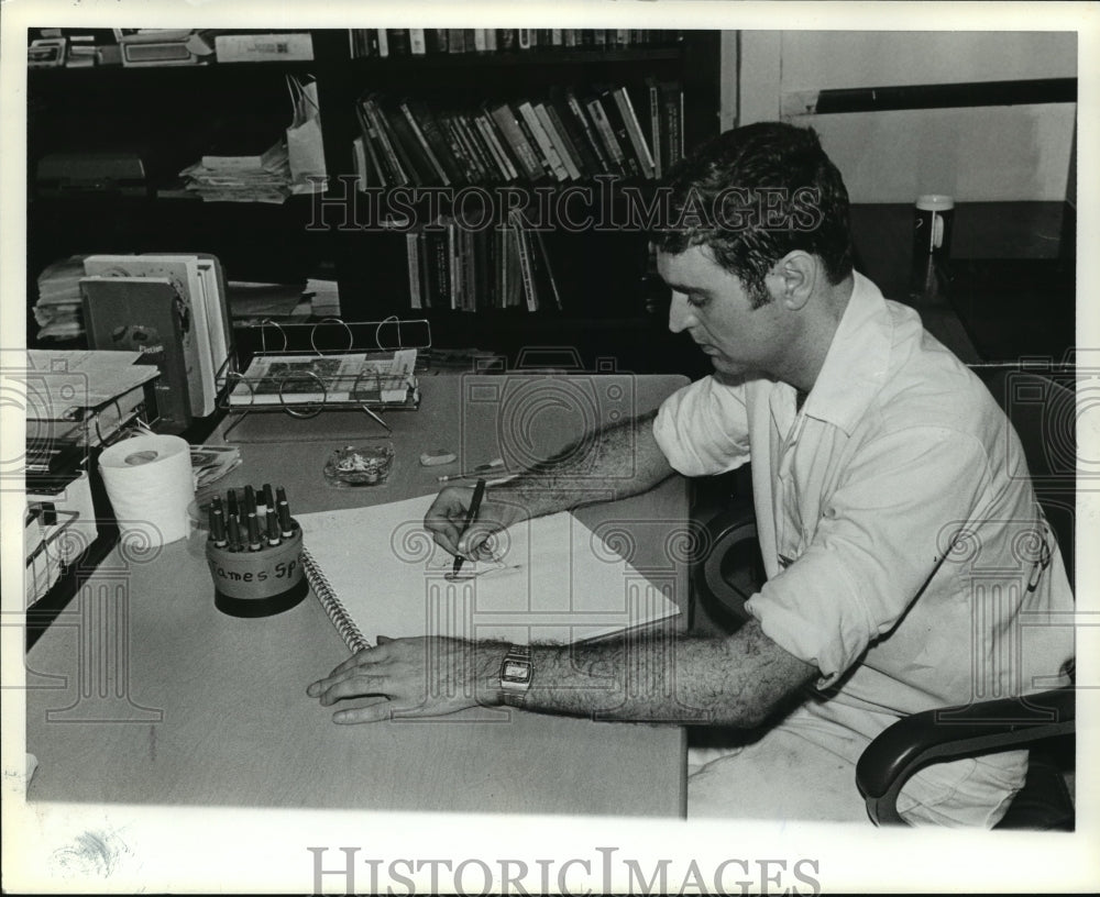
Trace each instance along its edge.
<instances>
[{"instance_id":1,"label":"round desk cup lettered James, without the pens in it","mask_svg":"<svg viewBox=\"0 0 1100 897\"><path fill-rule=\"evenodd\" d=\"M298 605L309 591L301 566L301 528L278 545L229 551L207 543L213 602L231 617L271 617Z\"/></svg>"}]
</instances>

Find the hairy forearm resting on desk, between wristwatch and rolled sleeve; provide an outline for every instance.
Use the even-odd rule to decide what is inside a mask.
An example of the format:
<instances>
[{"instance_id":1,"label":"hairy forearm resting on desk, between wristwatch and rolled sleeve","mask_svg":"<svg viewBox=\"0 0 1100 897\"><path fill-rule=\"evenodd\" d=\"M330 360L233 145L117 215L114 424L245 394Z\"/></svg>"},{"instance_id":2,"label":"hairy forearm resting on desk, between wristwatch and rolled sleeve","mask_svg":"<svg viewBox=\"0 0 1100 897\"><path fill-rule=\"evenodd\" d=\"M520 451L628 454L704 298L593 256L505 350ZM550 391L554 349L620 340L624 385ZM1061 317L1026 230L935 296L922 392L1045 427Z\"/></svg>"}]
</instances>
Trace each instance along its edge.
<instances>
[{"instance_id":1,"label":"hairy forearm resting on desk, between wristwatch and rolled sleeve","mask_svg":"<svg viewBox=\"0 0 1100 897\"><path fill-rule=\"evenodd\" d=\"M727 638L536 645L525 708L596 719L758 726L816 671L756 621Z\"/></svg>"}]
</instances>

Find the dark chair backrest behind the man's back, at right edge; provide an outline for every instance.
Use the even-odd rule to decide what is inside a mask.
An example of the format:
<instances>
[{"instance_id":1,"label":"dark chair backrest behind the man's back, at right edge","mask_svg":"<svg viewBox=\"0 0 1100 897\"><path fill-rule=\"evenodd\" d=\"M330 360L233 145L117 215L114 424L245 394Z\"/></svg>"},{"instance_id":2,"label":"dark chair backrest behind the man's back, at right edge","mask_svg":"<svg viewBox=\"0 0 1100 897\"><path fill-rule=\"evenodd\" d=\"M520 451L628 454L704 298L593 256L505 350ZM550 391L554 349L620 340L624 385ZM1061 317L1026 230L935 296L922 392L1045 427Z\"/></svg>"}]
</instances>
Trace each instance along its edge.
<instances>
[{"instance_id":1,"label":"dark chair backrest behind the man's back, at right edge","mask_svg":"<svg viewBox=\"0 0 1100 897\"><path fill-rule=\"evenodd\" d=\"M1077 397L1072 374L976 368L1027 458L1035 497L1058 540L1070 583L1076 560Z\"/></svg>"}]
</instances>

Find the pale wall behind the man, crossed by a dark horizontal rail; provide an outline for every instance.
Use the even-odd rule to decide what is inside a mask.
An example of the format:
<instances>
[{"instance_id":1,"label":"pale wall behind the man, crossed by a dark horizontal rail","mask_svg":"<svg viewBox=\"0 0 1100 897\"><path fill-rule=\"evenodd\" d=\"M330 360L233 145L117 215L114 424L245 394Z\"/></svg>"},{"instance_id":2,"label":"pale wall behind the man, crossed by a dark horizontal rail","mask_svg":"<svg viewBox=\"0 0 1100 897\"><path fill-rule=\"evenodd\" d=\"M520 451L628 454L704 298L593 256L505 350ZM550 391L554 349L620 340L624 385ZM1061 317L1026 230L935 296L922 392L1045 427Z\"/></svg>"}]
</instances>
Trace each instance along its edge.
<instances>
[{"instance_id":1,"label":"pale wall behind the man, crossed by a dark horizontal rail","mask_svg":"<svg viewBox=\"0 0 1100 897\"><path fill-rule=\"evenodd\" d=\"M804 91L1077 76L1067 32L744 31L739 43L723 112L743 124L780 118ZM821 133L857 202L1060 201L1072 184L1076 103L788 118Z\"/></svg>"}]
</instances>

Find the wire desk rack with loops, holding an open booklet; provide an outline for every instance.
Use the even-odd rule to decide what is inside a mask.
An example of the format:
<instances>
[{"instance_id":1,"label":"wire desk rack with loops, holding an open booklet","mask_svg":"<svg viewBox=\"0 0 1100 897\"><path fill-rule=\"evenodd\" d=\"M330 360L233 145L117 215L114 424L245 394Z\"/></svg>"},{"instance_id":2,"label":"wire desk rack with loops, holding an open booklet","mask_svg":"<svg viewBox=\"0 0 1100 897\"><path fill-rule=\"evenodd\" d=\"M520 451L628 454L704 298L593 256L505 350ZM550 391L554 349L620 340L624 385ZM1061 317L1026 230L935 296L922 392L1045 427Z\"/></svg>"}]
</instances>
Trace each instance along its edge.
<instances>
[{"instance_id":1,"label":"wire desk rack with loops, holding an open booklet","mask_svg":"<svg viewBox=\"0 0 1100 897\"><path fill-rule=\"evenodd\" d=\"M242 348L250 331L258 342L251 357ZM248 414L272 411L312 418L359 409L388 430L380 411L419 408L416 372L424 369L425 352L431 348L431 326L426 319L265 320L239 330L237 344L237 353L218 372L219 407L237 417L226 435ZM392 373L399 354L408 351L416 352L415 366Z\"/></svg>"}]
</instances>

